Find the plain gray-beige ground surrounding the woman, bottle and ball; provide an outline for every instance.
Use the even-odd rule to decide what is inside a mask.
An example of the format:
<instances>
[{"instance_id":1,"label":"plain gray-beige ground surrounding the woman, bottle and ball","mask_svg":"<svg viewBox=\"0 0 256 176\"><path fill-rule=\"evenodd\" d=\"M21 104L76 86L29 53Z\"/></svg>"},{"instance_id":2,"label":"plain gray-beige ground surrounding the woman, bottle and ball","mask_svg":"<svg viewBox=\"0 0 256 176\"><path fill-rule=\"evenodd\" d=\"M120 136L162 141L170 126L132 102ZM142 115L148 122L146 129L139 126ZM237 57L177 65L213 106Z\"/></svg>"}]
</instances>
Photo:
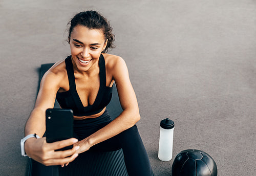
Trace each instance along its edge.
<instances>
[{"instance_id":1,"label":"plain gray-beige ground surrounding the woman, bottle and ball","mask_svg":"<svg viewBox=\"0 0 256 176\"><path fill-rule=\"evenodd\" d=\"M159 123L175 121L174 157L201 149L219 175L255 174L256 2L0 1L0 175L24 175L20 139L33 108L41 63L69 54L69 19L97 10L114 28L142 119L139 131L155 175Z\"/></svg>"}]
</instances>

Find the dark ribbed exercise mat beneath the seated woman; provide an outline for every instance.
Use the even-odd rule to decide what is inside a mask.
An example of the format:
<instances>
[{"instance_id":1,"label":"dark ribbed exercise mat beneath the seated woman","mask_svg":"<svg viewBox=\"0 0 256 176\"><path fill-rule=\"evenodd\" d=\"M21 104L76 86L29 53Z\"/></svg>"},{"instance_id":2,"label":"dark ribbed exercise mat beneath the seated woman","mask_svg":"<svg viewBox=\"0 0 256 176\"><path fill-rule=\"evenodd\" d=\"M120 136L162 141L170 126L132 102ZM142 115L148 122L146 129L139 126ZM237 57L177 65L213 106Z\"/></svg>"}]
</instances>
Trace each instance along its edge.
<instances>
[{"instance_id":1,"label":"dark ribbed exercise mat beneath the seated woman","mask_svg":"<svg viewBox=\"0 0 256 176\"><path fill-rule=\"evenodd\" d=\"M39 73L39 83L45 72L51 68L53 63L42 64ZM54 107L58 107L55 101ZM107 106L109 114L112 118L116 118L122 108L119 102L116 85L113 85L113 95L111 102ZM44 173L45 172L45 173ZM34 160L29 160L28 175L128 175L123 158L122 149L112 152L85 152L81 153L68 166L61 168L60 166L47 167Z\"/></svg>"}]
</instances>

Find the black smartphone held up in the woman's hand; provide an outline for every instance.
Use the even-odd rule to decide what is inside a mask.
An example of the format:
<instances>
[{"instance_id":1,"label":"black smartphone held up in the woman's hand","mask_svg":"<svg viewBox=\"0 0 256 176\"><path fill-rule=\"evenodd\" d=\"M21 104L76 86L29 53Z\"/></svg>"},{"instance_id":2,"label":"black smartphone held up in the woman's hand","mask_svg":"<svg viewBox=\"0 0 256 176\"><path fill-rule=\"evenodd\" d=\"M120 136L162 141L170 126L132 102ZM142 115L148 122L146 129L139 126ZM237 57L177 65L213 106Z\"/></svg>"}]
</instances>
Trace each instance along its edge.
<instances>
[{"instance_id":1,"label":"black smartphone held up in the woman's hand","mask_svg":"<svg viewBox=\"0 0 256 176\"><path fill-rule=\"evenodd\" d=\"M49 108L46 110L46 142L52 143L73 138L73 111L72 109ZM73 145L57 149L67 150Z\"/></svg>"}]
</instances>

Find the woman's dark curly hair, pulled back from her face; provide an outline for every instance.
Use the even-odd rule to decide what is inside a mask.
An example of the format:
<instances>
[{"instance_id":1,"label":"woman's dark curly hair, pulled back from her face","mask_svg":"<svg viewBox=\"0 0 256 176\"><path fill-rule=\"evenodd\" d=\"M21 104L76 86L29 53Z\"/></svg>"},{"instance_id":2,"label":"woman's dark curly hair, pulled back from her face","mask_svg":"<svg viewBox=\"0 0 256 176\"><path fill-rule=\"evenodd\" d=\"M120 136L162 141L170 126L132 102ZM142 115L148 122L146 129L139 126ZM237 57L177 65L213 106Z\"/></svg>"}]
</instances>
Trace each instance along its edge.
<instances>
[{"instance_id":1,"label":"woman's dark curly hair, pulled back from her face","mask_svg":"<svg viewBox=\"0 0 256 176\"><path fill-rule=\"evenodd\" d=\"M105 41L108 39L108 43L106 48L102 51L102 53L108 52L108 49L115 48L113 41L115 40L115 35L112 34L112 27L110 27L109 21L106 20L99 12L96 11L85 11L77 13L68 23L69 27L69 38L68 41L70 43L71 33L77 25L85 26L89 29L101 29Z\"/></svg>"}]
</instances>

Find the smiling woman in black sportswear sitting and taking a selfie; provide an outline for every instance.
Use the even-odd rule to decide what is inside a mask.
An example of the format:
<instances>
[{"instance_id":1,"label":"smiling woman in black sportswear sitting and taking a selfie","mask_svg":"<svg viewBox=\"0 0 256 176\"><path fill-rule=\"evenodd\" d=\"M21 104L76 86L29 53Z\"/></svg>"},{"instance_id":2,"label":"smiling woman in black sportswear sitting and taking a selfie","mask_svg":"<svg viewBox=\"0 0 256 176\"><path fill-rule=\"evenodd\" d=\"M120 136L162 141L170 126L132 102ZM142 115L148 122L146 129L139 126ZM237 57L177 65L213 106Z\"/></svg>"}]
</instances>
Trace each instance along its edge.
<instances>
[{"instance_id":1,"label":"smiling woman in black sportswear sitting and taking a selfie","mask_svg":"<svg viewBox=\"0 0 256 176\"><path fill-rule=\"evenodd\" d=\"M126 64L121 57L106 54L113 48L113 40L112 28L98 12L80 12L72 18L68 37L71 56L55 63L44 75L26 123L25 136L40 137L27 139L25 151L29 157L46 166L63 167L89 149L122 148L129 175L152 174L135 125L140 120L139 108ZM114 82L123 112L112 121L106 105ZM45 112L53 108L55 98L62 108L73 110L76 139L46 143L46 138L42 138ZM72 149L54 151L72 144Z\"/></svg>"}]
</instances>

